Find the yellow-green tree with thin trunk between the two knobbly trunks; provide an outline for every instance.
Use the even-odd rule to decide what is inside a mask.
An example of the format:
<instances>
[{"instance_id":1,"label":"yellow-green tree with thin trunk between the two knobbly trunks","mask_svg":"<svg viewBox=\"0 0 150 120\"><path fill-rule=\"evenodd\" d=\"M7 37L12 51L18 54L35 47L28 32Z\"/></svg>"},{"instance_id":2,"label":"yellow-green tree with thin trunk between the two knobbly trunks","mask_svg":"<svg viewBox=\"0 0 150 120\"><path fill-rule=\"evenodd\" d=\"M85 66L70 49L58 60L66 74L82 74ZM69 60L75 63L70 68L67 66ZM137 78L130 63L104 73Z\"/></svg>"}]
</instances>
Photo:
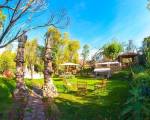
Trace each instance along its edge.
<instances>
[{"instance_id":1,"label":"yellow-green tree with thin trunk between the two knobbly trunks","mask_svg":"<svg viewBox=\"0 0 150 120\"><path fill-rule=\"evenodd\" d=\"M31 79L33 79L34 65L37 61L37 40L28 41L25 44L25 61L31 71Z\"/></svg>"}]
</instances>

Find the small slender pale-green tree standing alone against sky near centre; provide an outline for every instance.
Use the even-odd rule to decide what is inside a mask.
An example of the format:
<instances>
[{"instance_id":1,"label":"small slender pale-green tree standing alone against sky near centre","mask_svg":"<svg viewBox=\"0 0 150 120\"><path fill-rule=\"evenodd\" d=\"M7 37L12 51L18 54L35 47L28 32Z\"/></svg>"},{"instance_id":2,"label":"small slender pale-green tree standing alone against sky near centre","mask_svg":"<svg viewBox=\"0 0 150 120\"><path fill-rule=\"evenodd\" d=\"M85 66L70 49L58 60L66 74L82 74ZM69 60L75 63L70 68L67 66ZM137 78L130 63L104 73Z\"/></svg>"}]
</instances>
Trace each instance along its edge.
<instances>
[{"instance_id":1,"label":"small slender pale-green tree standing alone against sky near centre","mask_svg":"<svg viewBox=\"0 0 150 120\"><path fill-rule=\"evenodd\" d=\"M82 50L82 57L83 57L83 68L85 65L85 61L87 60L88 56L89 56L90 50L89 50L89 46L87 44L85 44L83 46L83 50Z\"/></svg>"}]
</instances>

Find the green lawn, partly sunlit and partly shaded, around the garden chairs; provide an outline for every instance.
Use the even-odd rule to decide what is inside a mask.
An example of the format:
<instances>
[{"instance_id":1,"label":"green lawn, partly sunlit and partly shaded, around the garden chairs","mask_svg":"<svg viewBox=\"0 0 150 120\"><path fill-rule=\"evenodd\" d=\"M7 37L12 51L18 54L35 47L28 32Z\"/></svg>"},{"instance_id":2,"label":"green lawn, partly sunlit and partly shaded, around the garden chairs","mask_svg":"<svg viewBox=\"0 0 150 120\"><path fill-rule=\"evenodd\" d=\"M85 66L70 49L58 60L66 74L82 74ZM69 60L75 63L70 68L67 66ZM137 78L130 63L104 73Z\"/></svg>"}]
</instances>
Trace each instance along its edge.
<instances>
[{"instance_id":1,"label":"green lawn, partly sunlit and partly shaded, around the garden chairs","mask_svg":"<svg viewBox=\"0 0 150 120\"><path fill-rule=\"evenodd\" d=\"M64 92L63 82L53 78L59 96L55 102L61 112L60 120L117 120L128 97L127 72L120 72L108 80L105 91L94 92L95 78L76 77L69 79L72 84L78 80L88 82L88 94L77 96L76 91ZM42 85L43 80L26 80L28 87ZM10 90L15 87L14 80L0 78L0 113L7 113L12 104Z\"/></svg>"}]
</instances>

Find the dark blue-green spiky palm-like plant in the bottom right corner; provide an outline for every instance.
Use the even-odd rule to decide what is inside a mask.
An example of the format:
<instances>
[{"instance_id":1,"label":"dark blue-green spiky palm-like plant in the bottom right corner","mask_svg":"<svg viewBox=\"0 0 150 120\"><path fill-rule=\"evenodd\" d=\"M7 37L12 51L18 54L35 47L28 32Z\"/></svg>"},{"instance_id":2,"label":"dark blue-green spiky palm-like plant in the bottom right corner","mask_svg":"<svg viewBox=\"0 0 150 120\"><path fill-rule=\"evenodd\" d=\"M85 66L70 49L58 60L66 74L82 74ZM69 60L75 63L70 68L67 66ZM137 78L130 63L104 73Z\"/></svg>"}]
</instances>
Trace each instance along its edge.
<instances>
[{"instance_id":1,"label":"dark blue-green spiky palm-like plant in the bottom right corner","mask_svg":"<svg viewBox=\"0 0 150 120\"><path fill-rule=\"evenodd\" d=\"M129 92L131 96L125 103L127 107L121 115L129 120L143 120L149 114L149 109L146 107L142 90L138 87L133 87Z\"/></svg>"}]
</instances>

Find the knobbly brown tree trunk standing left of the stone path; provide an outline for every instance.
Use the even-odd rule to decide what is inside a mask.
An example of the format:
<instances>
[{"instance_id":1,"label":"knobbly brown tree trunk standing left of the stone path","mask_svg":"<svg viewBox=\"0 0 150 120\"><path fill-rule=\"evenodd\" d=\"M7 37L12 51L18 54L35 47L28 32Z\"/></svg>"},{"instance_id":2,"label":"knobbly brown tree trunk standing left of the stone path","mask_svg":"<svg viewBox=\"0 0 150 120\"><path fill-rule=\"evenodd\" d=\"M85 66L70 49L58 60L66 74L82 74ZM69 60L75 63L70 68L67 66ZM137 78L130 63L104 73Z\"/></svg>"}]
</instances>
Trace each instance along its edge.
<instances>
[{"instance_id":1,"label":"knobbly brown tree trunk standing left of the stone path","mask_svg":"<svg viewBox=\"0 0 150 120\"><path fill-rule=\"evenodd\" d=\"M14 96L16 100L27 97L27 87L24 82L24 47L27 41L27 36L22 35L18 40L16 62L16 90Z\"/></svg>"}]
</instances>

